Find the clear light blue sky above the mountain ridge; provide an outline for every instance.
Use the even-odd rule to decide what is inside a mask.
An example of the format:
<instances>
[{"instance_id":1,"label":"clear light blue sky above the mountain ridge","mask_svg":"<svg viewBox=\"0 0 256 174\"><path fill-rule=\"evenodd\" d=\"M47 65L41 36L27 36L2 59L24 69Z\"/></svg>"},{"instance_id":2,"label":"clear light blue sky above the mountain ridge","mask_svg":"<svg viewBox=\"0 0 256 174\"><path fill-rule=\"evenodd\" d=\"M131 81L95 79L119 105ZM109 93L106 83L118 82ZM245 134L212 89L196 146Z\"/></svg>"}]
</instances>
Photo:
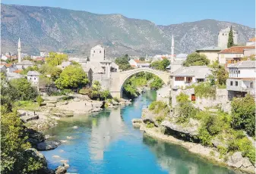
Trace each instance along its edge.
<instances>
[{"instance_id":1,"label":"clear light blue sky above the mountain ridge","mask_svg":"<svg viewBox=\"0 0 256 174\"><path fill-rule=\"evenodd\" d=\"M255 27L255 0L2 0L2 3L123 14L158 25L215 19Z\"/></svg>"}]
</instances>

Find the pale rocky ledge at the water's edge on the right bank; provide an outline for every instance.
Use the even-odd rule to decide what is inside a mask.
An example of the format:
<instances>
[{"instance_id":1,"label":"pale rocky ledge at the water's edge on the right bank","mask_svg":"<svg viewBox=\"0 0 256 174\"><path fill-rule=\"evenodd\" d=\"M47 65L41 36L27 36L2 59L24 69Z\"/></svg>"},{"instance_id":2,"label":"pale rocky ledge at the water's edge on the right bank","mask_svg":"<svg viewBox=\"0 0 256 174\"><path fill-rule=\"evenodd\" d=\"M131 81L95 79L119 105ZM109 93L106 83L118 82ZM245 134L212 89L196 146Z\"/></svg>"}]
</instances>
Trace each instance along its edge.
<instances>
[{"instance_id":1,"label":"pale rocky ledge at the water's edge on the right bank","mask_svg":"<svg viewBox=\"0 0 256 174\"><path fill-rule=\"evenodd\" d=\"M188 151L194 154L199 154L209 160L213 160L220 165L229 166L234 169L246 173L254 173L255 166L250 162L248 157L242 157L242 152L236 151L233 154L221 157L216 147L210 148L199 144L196 138L193 137L198 135L198 122L190 120L187 126L181 126L173 123L171 118L163 120L162 123L157 121L157 117L154 113L148 109L144 109L142 119L132 120L134 127L140 128L147 135L153 138L160 139L161 141L167 141L172 144L182 145L187 148ZM188 138L189 137L189 138ZM191 141L192 140L192 141ZM213 140L213 145L217 146L220 141Z\"/></svg>"}]
</instances>

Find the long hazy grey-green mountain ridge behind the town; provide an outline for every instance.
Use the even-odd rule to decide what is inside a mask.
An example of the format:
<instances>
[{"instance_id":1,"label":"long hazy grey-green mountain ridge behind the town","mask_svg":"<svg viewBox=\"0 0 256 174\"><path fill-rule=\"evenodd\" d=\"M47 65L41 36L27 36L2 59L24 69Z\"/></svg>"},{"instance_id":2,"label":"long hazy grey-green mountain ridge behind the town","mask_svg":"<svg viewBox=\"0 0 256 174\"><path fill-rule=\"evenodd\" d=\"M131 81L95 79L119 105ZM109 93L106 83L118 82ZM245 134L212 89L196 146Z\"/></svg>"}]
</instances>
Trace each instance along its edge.
<instances>
[{"instance_id":1,"label":"long hazy grey-green mountain ridge behind the town","mask_svg":"<svg viewBox=\"0 0 256 174\"><path fill-rule=\"evenodd\" d=\"M239 43L255 35L254 29L237 23L200 20L158 26L149 20L121 14L92 14L62 8L4 5L1 8L2 52L65 51L89 55L90 48L102 44L106 57L121 54L170 54L172 35L175 54L216 45L217 34L227 26L239 32Z\"/></svg>"}]
</instances>

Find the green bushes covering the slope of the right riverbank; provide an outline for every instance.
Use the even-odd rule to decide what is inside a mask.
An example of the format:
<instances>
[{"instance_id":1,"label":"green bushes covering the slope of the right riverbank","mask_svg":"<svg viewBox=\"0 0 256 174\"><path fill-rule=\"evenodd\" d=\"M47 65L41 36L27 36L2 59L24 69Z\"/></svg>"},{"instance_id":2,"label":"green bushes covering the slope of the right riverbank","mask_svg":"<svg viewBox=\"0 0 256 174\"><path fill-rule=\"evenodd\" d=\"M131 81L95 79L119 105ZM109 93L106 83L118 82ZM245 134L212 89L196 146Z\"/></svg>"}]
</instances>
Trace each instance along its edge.
<instances>
[{"instance_id":1,"label":"green bushes covering the slope of the right riverbank","mask_svg":"<svg viewBox=\"0 0 256 174\"><path fill-rule=\"evenodd\" d=\"M176 99L179 104L172 108L172 113L163 101L153 101L148 107L156 114L155 120L159 125L164 120L168 120L176 125L188 127L191 119L195 120L199 123L198 134L192 135L186 141L215 148L223 161L227 161L235 152L242 152L242 157L248 157L252 164L255 163L255 148L249 139L251 137L254 140L255 136L255 101L251 95L246 95L245 98L234 98L230 114L220 109L199 110L184 93L178 95ZM155 127L153 123L147 123L147 128L153 127ZM181 136L178 137L182 139L187 136L182 133L179 135Z\"/></svg>"}]
</instances>

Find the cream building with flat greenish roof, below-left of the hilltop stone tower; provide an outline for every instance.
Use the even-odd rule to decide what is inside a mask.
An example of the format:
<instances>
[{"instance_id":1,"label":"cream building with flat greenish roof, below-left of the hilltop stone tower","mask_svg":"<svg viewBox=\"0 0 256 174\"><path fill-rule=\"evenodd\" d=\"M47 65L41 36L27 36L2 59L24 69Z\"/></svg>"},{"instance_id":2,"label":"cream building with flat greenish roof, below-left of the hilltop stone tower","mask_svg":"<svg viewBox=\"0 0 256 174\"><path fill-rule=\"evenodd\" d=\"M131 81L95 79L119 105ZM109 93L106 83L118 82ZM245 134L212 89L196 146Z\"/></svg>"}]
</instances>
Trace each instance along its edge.
<instances>
[{"instance_id":1,"label":"cream building with flat greenish roof, below-left of the hilltop stone tower","mask_svg":"<svg viewBox=\"0 0 256 174\"><path fill-rule=\"evenodd\" d=\"M197 49L196 52L198 52L199 54L206 55L207 58L211 62L213 62L213 61L218 61L218 52L220 52L221 50L222 50L222 48L220 48L220 47L210 46L210 47L206 47L206 48Z\"/></svg>"}]
</instances>

